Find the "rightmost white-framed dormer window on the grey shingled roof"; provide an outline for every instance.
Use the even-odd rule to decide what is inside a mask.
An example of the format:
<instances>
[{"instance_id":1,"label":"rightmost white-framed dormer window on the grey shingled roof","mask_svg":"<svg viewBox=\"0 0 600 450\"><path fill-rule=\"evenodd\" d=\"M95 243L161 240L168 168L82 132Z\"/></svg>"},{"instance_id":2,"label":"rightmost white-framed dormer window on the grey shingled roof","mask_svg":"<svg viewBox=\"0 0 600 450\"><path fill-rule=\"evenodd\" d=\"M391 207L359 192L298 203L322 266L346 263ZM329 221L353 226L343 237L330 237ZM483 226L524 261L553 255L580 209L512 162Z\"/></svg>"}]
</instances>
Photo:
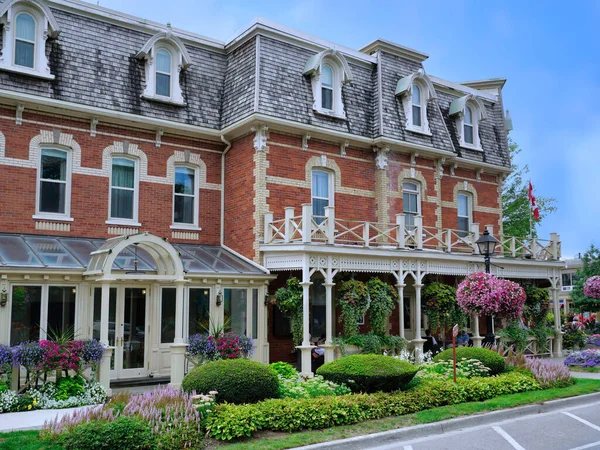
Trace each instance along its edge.
<instances>
[{"instance_id":1,"label":"rightmost white-framed dormer window on the grey shingled roof","mask_svg":"<svg viewBox=\"0 0 600 450\"><path fill-rule=\"evenodd\" d=\"M479 139L479 122L487 118L483 102L472 94L457 98L450 104L450 116L454 116L459 145L483 150Z\"/></svg>"}]
</instances>

